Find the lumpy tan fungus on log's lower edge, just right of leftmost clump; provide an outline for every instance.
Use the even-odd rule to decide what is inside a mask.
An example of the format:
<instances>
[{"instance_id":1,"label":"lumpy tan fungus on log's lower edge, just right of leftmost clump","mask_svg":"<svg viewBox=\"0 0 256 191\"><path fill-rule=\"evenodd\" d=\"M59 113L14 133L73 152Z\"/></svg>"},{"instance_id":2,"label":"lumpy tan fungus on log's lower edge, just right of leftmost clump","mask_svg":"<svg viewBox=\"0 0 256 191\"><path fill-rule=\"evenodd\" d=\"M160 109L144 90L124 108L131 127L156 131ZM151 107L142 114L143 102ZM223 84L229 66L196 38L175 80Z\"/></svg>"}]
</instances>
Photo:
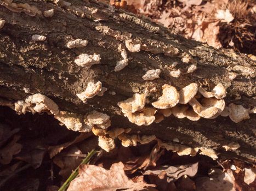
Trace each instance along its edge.
<instances>
[{"instance_id":1,"label":"lumpy tan fungus on log's lower edge, just right of leftmost clump","mask_svg":"<svg viewBox=\"0 0 256 191\"><path fill-rule=\"evenodd\" d=\"M93 128L93 124L87 120L86 115L60 111L54 118L60 121L61 125L64 124L67 129L74 130L75 132L90 132Z\"/></svg>"}]
</instances>

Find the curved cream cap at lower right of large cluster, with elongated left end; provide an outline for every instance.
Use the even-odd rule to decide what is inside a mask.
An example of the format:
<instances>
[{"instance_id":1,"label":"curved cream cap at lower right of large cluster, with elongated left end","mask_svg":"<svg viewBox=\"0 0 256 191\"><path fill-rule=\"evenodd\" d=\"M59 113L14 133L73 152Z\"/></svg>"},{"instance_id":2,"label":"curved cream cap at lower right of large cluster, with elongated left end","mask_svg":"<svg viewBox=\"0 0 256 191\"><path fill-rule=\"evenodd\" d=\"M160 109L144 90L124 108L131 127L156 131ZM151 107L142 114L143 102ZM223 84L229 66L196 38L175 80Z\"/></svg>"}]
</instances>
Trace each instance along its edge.
<instances>
[{"instance_id":1,"label":"curved cream cap at lower right of large cluster, with elongated left end","mask_svg":"<svg viewBox=\"0 0 256 191\"><path fill-rule=\"evenodd\" d=\"M217 114L219 112L218 108L215 107L204 107L202 106L197 100L196 98L192 98L189 101L189 104L192 106L193 110L200 115L203 118L211 118L213 117L215 114Z\"/></svg>"}]
</instances>

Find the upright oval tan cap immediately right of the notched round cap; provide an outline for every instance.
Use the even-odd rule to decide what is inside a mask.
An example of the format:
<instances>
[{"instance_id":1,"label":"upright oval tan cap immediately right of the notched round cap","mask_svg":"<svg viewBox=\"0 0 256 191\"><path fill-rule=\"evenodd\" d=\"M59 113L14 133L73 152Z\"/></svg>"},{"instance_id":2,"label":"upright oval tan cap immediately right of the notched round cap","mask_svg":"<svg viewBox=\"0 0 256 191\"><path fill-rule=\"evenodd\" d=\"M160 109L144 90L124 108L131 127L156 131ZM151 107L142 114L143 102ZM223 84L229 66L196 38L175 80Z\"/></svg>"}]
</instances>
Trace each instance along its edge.
<instances>
[{"instance_id":1,"label":"upright oval tan cap immediately right of the notched round cap","mask_svg":"<svg viewBox=\"0 0 256 191\"><path fill-rule=\"evenodd\" d=\"M198 90L197 83L190 83L190 85L187 85L184 88L180 89L179 103L180 104L189 103L189 101L196 96L197 90Z\"/></svg>"}]
</instances>

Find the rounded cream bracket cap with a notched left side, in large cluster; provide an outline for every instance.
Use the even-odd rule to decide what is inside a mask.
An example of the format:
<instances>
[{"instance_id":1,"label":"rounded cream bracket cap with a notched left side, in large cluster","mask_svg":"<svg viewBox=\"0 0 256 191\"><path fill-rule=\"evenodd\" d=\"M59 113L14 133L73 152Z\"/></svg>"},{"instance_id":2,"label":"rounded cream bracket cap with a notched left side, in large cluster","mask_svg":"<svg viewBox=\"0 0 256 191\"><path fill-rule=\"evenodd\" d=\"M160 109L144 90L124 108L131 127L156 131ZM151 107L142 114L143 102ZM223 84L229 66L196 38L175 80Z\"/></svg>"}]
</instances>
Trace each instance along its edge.
<instances>
[{"instance_id":1,"label":"rounded cream bracket cap with a notched left side, in large cluster","mask_svg":"<svg viewBox=\"0 0 256 191\"><path fill-rule=\"evenodd\" d=\"M157 109L172 108L179 103L179 92L171 85L165 84L162 86L163 94L153 102L152 105Z\"/></svg>"}]
</instances>

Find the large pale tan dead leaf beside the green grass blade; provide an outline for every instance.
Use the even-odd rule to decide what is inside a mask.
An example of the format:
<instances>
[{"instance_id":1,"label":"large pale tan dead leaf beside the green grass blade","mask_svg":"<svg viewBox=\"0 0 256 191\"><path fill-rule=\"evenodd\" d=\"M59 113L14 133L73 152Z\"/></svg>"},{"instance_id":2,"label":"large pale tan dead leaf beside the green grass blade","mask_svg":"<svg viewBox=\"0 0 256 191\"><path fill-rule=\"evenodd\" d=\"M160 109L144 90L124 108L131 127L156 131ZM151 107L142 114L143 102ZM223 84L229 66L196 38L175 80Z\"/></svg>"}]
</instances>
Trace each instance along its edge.
<instances>
[{"instance_id":1,"label":"large pale tan dead leaf beside the green grass blade","mask_svg":"<svg viewBox=\"0 0 256 191\"><path fill-rule=\"evenodd\" d=\"M124 173L123 163L115 163L110 170L95 165L79 166L79 177L70 183L67 191L80 190L105 190L114 191L123 189L126 191L143 190L145 187L155 187L145 182L133 182Z\"/></svg>"}]
</instances>

